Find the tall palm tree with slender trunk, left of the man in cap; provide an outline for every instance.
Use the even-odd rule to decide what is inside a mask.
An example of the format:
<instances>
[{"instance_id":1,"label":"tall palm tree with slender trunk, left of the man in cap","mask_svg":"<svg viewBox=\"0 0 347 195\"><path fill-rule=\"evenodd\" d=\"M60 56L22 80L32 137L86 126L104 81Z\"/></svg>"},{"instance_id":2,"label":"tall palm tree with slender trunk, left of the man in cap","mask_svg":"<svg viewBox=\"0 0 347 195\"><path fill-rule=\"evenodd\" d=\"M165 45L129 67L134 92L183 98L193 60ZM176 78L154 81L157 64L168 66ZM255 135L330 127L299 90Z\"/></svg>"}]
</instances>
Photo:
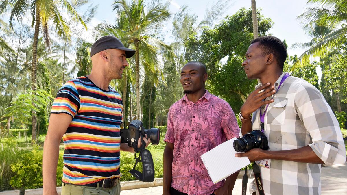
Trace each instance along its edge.
<instances>
[{"instance_id":1,"label":"tall palm tree with slender trunk, left of the man in cap","mask_svg":"<svg viewBox=\"0 0 347 195\"><path fill-rule=\"evenodd\" d=\"M70 41L70 29L62 16L66 11L68 14L72 14L74 19L78 20L87 29L87 26L83 22L83 19L78 15L76 10L70 5L67 0L2 0L0 1L0 14L10 10L9 26L13 29L16 19L19 21L26 13L31 13L33 18L32 27L35 25L34 38L33 38L33 61L32 61L32 91L37 90L37 42L39 39L39 31L42 29L42 33L45 39L46 46L50 48L49 38L49 21L52 20L52 24L55 26L56 33L60 39L67 39ZM35 107L35 100L32 101ZM32 111L32 125L33 133L32 140L36 139L36 111Z\"/></svg>"}]
</instances>

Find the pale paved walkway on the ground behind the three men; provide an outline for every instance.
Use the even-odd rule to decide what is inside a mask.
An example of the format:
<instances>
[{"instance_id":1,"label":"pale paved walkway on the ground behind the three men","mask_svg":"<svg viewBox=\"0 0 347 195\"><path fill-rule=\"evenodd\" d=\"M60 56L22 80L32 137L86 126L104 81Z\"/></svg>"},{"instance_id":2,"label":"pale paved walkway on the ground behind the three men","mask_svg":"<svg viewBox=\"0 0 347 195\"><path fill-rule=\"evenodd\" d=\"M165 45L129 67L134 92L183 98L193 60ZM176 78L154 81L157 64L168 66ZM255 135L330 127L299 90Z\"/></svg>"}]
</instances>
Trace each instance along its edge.
<instances>
[{"instance_id":1,"label":"pale paved walkway on the ground behind the three men","mask_svg":"<svg viewBox=\"0 0 347 195\"><path fill-rule=\"evenodd\" d=\"M347 194L347 162L343 165L322 167L322 195ZM249 185L249 180L248 180ZM241 194L242 179L237 179L233 194ZM162 186L122 190L121 195L161 195ZM248 193L247 193L248 194Z\"/></svg>"}]
</instances>

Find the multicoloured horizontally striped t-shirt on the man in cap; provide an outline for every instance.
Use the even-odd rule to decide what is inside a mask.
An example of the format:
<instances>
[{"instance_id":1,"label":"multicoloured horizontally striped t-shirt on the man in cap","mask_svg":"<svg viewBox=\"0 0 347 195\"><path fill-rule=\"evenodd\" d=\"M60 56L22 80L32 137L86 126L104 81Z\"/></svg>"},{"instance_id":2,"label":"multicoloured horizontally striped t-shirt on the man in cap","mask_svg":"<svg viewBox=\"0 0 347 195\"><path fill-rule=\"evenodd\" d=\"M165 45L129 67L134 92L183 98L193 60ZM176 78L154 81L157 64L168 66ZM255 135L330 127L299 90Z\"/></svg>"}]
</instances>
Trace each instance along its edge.
<instances>
[{"instance_id":1,"label":"multicoloured horizontally striped t-shirt on the man in cap","mask_svg":"<svg viewBox=\"0 0 347 195\"><path fill-rule=\"evenodd\" d=\"M63 136L64 183L85 185L120 177L122 108L119 93L111 87L102 90L85 76L61 87L51 113L73 117Z\"/></svg>"}]
</instances>

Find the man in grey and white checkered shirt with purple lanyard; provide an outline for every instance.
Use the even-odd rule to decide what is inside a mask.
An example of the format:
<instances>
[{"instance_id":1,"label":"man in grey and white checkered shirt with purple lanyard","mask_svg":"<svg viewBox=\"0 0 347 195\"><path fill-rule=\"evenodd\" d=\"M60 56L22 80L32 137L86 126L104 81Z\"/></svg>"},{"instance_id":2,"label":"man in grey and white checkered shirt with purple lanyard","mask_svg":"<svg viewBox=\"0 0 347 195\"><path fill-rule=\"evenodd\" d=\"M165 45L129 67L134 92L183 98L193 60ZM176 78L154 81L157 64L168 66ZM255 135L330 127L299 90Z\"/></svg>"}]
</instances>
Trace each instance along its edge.
<instances>
[{"instance_id":1,"label":"man in grey and white checkered shirt with purple lanyard","mask_svg":"<svg viewBox=\"0 0 347 195\"><path fill-rule=\"evenodd\" d=\"M282 73L286 58L286 47L277 37L259 37L249 46L242 66L248 79L259 78L261 83L241 107L240 136L261 129L269 150L252 149L236 156L258 164L269 161L269 169L259 166L266 195L316 195L321 193L321 164L346 161L344 141L322 93L305 80ZM259 194L254 180L250 192Z\"/></svg>"}]
</instances>

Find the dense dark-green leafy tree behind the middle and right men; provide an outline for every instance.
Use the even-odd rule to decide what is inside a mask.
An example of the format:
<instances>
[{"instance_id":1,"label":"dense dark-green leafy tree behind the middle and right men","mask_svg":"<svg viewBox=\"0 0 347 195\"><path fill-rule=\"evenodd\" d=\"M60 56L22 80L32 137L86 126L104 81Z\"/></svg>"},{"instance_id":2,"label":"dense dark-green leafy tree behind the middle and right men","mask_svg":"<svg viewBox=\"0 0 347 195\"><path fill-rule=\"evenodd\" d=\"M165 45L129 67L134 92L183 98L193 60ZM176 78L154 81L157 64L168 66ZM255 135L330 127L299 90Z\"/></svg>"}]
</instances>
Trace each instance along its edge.
<instances>
[{"instance_id":1,"label":"dense dark-green leafy tree behind the middle and right men","mask_svg":"<svg viewBox=\"0 0 347 195\"><path fill-rule=\"evenodd\" d=\"M260 11L257 11L258 31L260 36L264 36L273 22ZM201 36L190 36L186 44L188 61L203 62L208 69L207 88L225 99L236 113L256 84L256 80L246 78L241 66L252 40L252 10L242 8L214 28L203 28Z\"/></svg>"}]
</instances>

